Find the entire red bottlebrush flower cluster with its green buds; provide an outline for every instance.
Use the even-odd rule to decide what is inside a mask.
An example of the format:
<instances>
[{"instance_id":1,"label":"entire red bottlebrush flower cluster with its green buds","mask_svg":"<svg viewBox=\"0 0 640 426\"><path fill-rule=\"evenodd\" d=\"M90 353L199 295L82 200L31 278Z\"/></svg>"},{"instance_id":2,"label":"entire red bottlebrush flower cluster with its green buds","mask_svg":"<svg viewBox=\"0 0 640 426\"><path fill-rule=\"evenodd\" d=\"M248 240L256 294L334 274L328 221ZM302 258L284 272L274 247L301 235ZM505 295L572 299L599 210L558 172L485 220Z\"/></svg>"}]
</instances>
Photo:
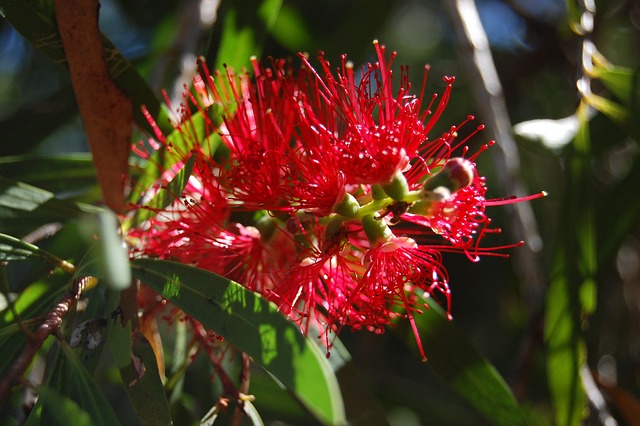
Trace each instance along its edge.
<instances>
[{"instance_id":1,"label":"entire red bottlebrush flower cluster with its green buds","mask_svg":"<svg viewBox=\"0 0 640 426\"><path fill-rule=\"evenodd\" d=\"M424 99L428 68L417 95L402 68L394 89L396 54L374 46L377 62L360 69L343 56L334 71L322 54L319 70L302 54L297 70L253 59L253 77L203 65L175 123L188 146L160 131L151 144L176 160L160 184L191 157L193 173L176 202L129 237L138 254L259 292L303 332L321 330L328 347L341 327L381 333L405 316L424 358L414 315L434 293L449 310L442 253L504 256L479 242L490 231L485 207L505 200L486 200L476 171L489 144L468 156L468 137L458 140L473 117L429 135L454 79ZM136 152L151 158L142 145Z\"/></svg>"}]
</instances>

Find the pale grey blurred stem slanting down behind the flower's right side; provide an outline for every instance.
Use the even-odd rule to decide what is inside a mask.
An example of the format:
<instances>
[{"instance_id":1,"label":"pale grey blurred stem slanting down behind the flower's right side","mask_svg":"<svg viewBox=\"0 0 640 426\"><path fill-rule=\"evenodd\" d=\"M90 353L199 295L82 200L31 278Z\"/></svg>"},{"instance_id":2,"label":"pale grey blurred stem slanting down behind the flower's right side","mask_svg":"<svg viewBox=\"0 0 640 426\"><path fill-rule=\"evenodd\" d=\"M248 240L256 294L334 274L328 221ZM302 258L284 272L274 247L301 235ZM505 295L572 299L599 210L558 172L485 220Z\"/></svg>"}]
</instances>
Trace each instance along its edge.
<instances>
[{"instance_id":1,"label":"pale grey blurred stem slanting down behind the flower's right side","mask_svg":"<svg viewBox=\"0 0 640 426\"><path fill-rule=\"evenodd\" d=\"M462 60L468 69L471 87L478 105L482 105L482 121L487 125L492 139L498 141L489 150L493 155L495 173L502 191L508 195L525 195L520 172L518 148L512 137L511 122L504 101L502 85L498 78L489 41L484 31L474 0L444 0L453 23ZM505 206L511 211L510 232L525 245L516 250L513 259L519 281L526 285L532 306L543 301L546 280L539 259L542 239L529 203Z\"/></svg>"}]
</instances>

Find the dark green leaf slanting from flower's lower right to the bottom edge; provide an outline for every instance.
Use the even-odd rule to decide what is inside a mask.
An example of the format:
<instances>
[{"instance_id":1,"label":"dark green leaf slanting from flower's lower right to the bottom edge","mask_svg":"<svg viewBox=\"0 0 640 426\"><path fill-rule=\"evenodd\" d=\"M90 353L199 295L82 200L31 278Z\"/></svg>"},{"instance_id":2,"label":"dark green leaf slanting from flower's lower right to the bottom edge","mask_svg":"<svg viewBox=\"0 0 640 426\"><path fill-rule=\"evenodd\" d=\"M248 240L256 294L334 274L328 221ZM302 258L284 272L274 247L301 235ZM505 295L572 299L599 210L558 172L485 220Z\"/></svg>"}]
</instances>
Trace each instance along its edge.
<instances>
[{"instance_id":1,"label":"dark green leaf slanting from flower's lower right to the bottom edge","mask_svg":"<svg viewBox=\"0 0 640 426\"><path fill-rule=\"evenodd\" d=\"M493 365L447 319L436 301L427 298L425 302L429 309L414 318L427 354L426 366L492 424L525 424L518 402ZM404 330L408 344L417 348L413 333L408 327Z\"/></svg>"}]
</instances>

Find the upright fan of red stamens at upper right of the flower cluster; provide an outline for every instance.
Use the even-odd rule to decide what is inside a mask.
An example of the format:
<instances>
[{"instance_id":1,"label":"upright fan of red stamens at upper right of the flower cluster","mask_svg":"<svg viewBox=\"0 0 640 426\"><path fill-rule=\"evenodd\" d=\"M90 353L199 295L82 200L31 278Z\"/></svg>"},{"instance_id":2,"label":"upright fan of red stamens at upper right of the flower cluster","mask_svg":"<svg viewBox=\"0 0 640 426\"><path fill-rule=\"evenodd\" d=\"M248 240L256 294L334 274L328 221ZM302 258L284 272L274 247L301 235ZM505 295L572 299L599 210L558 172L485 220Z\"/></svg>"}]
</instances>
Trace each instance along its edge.
<instances>
[{"instance_id":1,"label":"upright fan of red stamens at upper right of the flower cluster","mask_svg":"<svg viewBox=\"0 0 640 426\"><path fill-rule=\"evenodd\" d=\"M402 70L401 87L396 92L391 71L396 54L393 52L387 59L385 47L377 41L374 45L378 62L360 70L358 83L346 55L341 58L336 76L322 53L322 75L301 55L315 77L309 86L311 93L305 94L304 108L300 109L303 126L313 129L323 150L336 157L348 184L387 183L406 169L409 161L422 152L438 151L442 144L440 140L435 144L427 141L447 105L453 79L445 79L447 88L427 121L430 112L422 111L422 100L428 68L419 97L409 93L406 69Z\"/></svg>"}]
</instances>

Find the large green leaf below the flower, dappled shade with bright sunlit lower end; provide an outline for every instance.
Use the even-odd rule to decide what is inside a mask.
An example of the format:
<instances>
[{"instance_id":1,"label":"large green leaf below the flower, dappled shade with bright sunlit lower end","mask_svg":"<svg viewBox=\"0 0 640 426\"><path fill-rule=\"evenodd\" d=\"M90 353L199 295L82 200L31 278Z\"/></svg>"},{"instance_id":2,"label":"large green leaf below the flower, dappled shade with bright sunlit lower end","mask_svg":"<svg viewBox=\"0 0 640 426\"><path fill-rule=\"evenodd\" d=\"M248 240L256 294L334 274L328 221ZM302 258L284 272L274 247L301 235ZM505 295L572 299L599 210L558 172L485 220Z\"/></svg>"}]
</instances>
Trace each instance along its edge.
<instances>
[{"instance_id":1,"label":"large green leaf below the flower, dappled shade with bright sunlit lower end","mask_svg":"<svg viewBox=\"0 0 640 426\"><path fill-rule=\"evenodd\" d=\"M134 259L133 275L215 330L271 373L320 421L344 424L340 389L323 351L277 306L216 274L175 262Z\"/></svg>"}]
</instances>

